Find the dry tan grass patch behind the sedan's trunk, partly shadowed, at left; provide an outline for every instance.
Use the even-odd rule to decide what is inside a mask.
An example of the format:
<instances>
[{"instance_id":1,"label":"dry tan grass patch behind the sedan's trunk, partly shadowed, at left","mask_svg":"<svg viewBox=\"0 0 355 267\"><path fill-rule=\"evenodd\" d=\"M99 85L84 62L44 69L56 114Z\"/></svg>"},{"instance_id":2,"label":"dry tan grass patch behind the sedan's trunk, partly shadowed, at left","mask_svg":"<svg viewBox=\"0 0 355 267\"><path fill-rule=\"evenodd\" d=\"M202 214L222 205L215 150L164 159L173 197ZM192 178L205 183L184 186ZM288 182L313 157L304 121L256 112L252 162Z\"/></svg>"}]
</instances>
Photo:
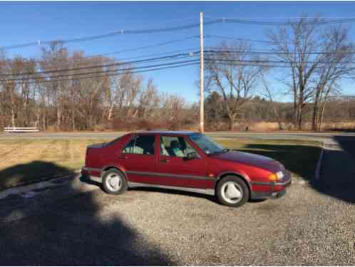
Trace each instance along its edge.
<instances>
[{"instance_id":1,"label":"dry tan grass patch behind the sedan's trunk, partly shadowed, at left","mask_svg":"<svg viewBox=\"0 0 355 267\"><path fill-rule=\"evenodd\" d=\"M107 140L0 140L0 189L80 169L86 146Z\"/></svg>"}]
</instances>

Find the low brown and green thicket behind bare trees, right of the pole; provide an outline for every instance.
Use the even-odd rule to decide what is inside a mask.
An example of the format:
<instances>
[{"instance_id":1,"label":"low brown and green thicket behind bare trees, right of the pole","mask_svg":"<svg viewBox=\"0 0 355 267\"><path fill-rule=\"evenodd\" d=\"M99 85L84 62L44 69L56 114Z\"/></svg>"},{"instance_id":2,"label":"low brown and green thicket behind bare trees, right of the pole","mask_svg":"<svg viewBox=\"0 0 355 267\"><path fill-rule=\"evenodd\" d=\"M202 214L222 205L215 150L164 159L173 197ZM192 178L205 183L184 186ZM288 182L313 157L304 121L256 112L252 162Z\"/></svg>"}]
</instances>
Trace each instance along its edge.
<instances>
[{"instance_id":1,"label":"low brown and green thicket behind bare trees, right of the pole","mask_svg":"<svg viewBox=\"0 0 355 267\"><path fill-rule=\"evenodd\" d=\"M216 91L205 100L205 125L207 130L230 130L229 118L223 108L223 97ZM321 130L354 130L355 97L330 98L326 102ZM341 107L341 108L339 108ZM307 103L303 109L302 129L312 129L313 103ZM254 125L272 122L274 127L264 125L263 130L294 130L294 105L268 100L259 95L251 98L238 113L233 130L254 130ZM277 127L276 127L277 125Z\"/></svg>"}]
</instances>

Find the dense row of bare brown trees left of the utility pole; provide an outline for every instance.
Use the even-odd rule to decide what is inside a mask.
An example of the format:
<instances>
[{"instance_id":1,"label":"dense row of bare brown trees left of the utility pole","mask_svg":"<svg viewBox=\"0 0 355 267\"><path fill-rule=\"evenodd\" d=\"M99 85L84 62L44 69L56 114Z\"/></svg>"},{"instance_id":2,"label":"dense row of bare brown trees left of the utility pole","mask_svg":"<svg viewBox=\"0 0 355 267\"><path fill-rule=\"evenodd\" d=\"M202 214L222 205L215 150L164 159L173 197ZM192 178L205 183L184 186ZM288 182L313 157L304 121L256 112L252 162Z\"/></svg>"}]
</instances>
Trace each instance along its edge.
<instances>
[{"instance_id":1,"label":"dense row of bare brown trees left of the utility pole","mask_svg":"<svg viewBox=\"0 0 355 267\"><path fill-rule=\"evenodd\" d=\"M157 126L173 121L179 124L185 121L185 116L191 117L186 101L177 95L161 93L153 79L144 80L142 75L128 71L106 74L104 66L113 62L103 56L86 57L81 51L70 54L62 43L43 47L38 62L20 56L13 60L2 56L1 75L21 75L1 77L0 126L107 130L133 127L133 122L144 124L144 121L155 122ZM90 68L90 72L104 74L75 76L83 73L76 69L85 66L98 66ZM59 70L67 71L59 73ZM50 79L46 78L48 73Z\"/></svg>"}]
</instances>

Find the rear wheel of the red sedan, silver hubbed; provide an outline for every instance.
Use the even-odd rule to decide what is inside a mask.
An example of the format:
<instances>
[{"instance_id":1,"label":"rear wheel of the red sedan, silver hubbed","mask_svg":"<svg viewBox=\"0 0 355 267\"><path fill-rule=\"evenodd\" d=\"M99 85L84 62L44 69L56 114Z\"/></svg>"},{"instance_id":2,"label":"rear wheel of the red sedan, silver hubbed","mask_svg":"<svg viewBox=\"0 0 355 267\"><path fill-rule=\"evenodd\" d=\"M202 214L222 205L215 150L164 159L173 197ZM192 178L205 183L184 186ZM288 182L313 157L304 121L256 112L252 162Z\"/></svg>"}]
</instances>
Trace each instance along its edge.
<instances>
[{"instance_id":1,"label":"rear wheel of the red sedan, silver hubbed","mask_svg":"<svg viewBox=\"0 0 355 267\"><path fill-rule=\"evenodd\" d=\"M123 194L128 188L125 176L118 169L103 173L103 190L108 194Z\"/></svg>"}]
</instances>

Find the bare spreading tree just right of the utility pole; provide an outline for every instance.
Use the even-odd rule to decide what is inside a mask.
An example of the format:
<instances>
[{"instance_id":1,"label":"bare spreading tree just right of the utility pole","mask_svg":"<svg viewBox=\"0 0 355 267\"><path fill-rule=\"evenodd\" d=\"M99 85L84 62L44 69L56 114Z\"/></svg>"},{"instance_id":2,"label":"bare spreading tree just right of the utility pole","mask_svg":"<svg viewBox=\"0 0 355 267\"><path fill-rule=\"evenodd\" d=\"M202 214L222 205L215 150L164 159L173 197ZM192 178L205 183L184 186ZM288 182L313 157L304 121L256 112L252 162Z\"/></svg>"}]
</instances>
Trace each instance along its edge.
<instances>
[{"instance_id":1,"label":"bare spreading tree just right of the utility pole","mask_svg":"<svg viewBox=\"0 0 355 267\"><path fill-rule=\"evenodd\" d=\"M262 66L251 64L258 58L251 56L250 50L249 43L243 41L234 46L222 43L217 48L217 53L206 56L207 90L217 90L222 95L230 130L242 108L252 98L262 71ZM249 64L243 63L245 61Z\"/></svg>"}]
</instances>

